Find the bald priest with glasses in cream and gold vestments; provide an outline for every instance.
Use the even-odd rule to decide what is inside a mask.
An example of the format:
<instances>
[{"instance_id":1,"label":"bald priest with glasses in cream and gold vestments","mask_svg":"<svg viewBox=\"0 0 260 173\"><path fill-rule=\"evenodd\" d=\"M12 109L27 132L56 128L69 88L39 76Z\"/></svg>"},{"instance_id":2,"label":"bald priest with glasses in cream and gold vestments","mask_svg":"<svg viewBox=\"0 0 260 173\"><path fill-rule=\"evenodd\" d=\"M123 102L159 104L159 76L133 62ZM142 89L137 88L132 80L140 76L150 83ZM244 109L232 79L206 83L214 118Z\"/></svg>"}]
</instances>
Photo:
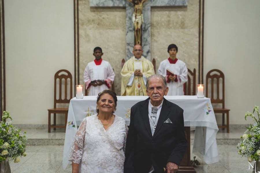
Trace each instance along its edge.
<instances>
[{"instance_id":1,"label":"bald priest with glasses in cream and gold vestments","mask_svg":"<svg viewBox=\"0 0 260 173\"><path fill-rule=\"evenodd\" d=\"M133 48L131 57L121 70L121 95L147 95L146 79L155 74L153 64L142 56L142 46Z\"/></svg>"}]
</instances>

